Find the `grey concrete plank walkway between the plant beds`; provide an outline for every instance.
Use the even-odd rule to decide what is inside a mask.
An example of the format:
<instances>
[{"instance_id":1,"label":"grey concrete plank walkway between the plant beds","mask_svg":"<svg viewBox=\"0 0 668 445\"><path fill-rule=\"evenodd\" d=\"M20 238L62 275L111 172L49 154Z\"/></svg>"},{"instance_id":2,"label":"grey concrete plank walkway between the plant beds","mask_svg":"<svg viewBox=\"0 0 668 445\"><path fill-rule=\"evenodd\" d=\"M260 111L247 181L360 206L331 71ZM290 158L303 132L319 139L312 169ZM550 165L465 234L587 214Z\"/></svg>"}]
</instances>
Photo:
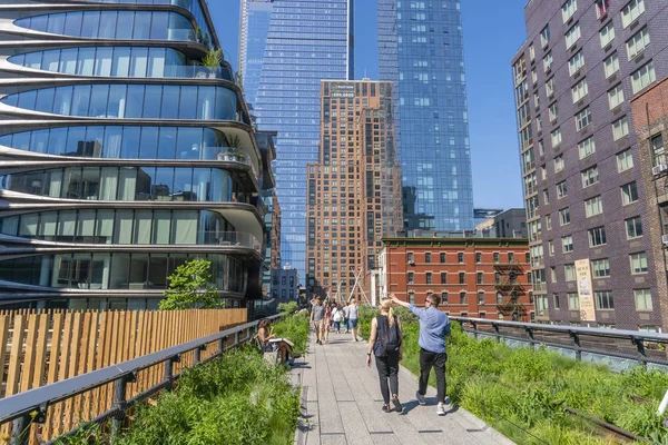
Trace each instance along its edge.
<instances>
[{"instance_id":1,"label":"grey concrete plank walkway between the plant beds","mask_svg":"<svg viewBox=\"0 0 668 445\"><path fill-rule=\"evenodd\" d=\"M383 413L375 363L366 366L366 343L351 335L330 334L330 343L315 344L312 333L307 353L293 369L306 402L307 425L297 442L307 445L338 444L512 444L483 421L461 407L449 406L436 415L434 388L428 405L415 400L418 379L400 369L400 400L404 414Z\"/></svg>"}]
</instances>

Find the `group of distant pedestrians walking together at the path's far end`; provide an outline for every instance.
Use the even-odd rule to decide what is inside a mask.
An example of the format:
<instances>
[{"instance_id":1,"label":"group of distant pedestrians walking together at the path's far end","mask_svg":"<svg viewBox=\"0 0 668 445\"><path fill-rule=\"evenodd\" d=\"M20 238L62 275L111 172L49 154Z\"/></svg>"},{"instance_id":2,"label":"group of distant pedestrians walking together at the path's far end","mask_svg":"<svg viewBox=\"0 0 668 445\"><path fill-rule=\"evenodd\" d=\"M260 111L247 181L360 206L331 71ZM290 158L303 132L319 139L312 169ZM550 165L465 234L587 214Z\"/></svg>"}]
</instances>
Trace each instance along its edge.
<instances>
[{"instance_id":1,"label":"group of distant pedestrians walking together at the path's far end","mask_svg":"<svg viewBox=\"0 0 668 445\"><path fill-rule=\"evenodd\" d=\"M312 301L311 324L315 328L316 344L322 345L330 343L330 332L341 334L341 325L345 327L345 333L353 333L353 338L358 342L357 335L357 318L360 314L360 304L355 298L350 303L341 301L323 301L321 297L316 297Z\"/></svg>"}]
</instances>

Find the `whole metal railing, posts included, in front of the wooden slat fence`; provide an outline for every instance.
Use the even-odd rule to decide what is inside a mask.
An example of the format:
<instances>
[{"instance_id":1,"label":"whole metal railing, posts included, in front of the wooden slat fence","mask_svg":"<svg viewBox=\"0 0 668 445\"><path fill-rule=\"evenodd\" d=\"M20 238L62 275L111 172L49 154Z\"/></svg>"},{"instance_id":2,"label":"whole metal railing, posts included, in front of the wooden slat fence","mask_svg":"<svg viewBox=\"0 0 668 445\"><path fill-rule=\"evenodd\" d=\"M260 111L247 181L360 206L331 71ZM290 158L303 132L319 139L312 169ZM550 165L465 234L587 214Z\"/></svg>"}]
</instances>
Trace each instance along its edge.
<instances>
[{"instance_id":1,"label":"whole metal railing, posts included, in front of the wooden slat fence","mask_svg":"<svg viewBox=\"0 0 668 445\"><path fill-rule=\"evenodd\" d=\"M268 318L278 317L281 315ZM0 399L0 427L7 431L4 425L12 422L10 442L12 445L27 444L30 434L41 435L40 443L47 441L53 443L58 437L72 435L80 428L108 421L114 436L120 432L126 412L135 403L163 389L170 389L184 369L212 360L225 350L248 342L256 333L258 324L259 320L246 323L207 337L2 398ZM216 344L215 352L209 350L210 344ZM159 369L160 366L163 369ZM151 380L141 373L153 372L155 375L160 370L163 378L158 384L141 386L141 382ZM106 392L98 396L101 394L98 392L105 388ZM90 404L91 399L101 405L109 402L105 405L108 409L102 409L101 414L88 419L84 418L85 413L79 413L79 422L68 418L71 414L62 409L65 404L86 407L85 400ZM61 431L63 425L66 428L69 427L69 431Z\"/></svg>"}]
</instances>

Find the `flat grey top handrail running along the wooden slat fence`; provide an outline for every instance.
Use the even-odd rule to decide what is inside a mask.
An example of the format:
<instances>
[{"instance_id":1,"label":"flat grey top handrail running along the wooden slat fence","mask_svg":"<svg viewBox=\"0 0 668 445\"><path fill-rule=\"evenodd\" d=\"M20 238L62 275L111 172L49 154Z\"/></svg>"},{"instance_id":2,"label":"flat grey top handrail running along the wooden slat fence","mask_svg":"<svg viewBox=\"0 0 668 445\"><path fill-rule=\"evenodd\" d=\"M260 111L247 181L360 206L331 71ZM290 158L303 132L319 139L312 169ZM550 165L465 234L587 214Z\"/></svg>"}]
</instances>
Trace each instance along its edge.
<instances>
[{"instance_id":1,"label":"flat grey top handrail running along the wooden slat fence","mask_svg":"<svg viewBox=\"0 0 668 445\"><path fill-rule=\"evenodd\" d=\"M278 317L281 317L281 314L271 316L268 317L268 319L275 319ZM244 325L222 330L219 333L212 334L206 337L197 338L141 357L132 358L127 362L107 366L101 369L81 374L76 377L67 378L65 380L56 382L49 385L40 386L38 388L29 389L27 392L2 398L0 399L0 424L4 424L7 422L11 422L23 416L28 416L32 412L39 412L41 409L45 409L48 405L61 402L66 398L70 398L87 390L95 389L102 385L117 382L128 375L131 375L132 373L146 369L159 363L170 362L175 357L178 357L180 354L185 354L190 350L196 350L202 346L208 345L209 343L219 343L219 354L224 349L224 347L220 347L223 343L222 340L226 339L232 335L236 335L243 330L254 328L258 324L259 320L246 323ZM235 338L235 343L229 347L238 346L239 344L248 339L249 338ZM197 363L195 363L194 366L196 365ZM154 392L161 389L161 387L164 387L164 385L156 385L153 388L148 388L147 392L145 392L145 394L150 395ZM151 390L154 388L155 390ZM116 409L112 408L105 414L109 414L112 412L116 412Z\"/></svg>"}]
</instances>

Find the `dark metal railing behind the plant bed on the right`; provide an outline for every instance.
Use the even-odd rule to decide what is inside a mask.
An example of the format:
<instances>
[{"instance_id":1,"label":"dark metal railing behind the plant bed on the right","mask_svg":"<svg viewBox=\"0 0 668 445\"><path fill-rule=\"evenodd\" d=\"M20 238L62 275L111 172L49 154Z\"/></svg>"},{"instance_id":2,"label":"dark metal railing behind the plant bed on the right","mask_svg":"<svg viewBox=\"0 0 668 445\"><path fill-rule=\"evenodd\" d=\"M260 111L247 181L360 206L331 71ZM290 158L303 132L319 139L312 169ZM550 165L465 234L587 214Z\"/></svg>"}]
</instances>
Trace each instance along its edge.
<instances>
[{"instance_id":1,"label":"dark metal railing behind the plant bed on the right","mask_svg":"<svg viewBox=\"0 0 668 445\"><path fill-rule=\"evenodd\" d=\"M487 318L450 317L474 338L495 338L509 345L560 352L577 360L602 363L615 370L638 364L668 367L668 334L611 328L593 328Z\"/></svg>"}]
</instances>

